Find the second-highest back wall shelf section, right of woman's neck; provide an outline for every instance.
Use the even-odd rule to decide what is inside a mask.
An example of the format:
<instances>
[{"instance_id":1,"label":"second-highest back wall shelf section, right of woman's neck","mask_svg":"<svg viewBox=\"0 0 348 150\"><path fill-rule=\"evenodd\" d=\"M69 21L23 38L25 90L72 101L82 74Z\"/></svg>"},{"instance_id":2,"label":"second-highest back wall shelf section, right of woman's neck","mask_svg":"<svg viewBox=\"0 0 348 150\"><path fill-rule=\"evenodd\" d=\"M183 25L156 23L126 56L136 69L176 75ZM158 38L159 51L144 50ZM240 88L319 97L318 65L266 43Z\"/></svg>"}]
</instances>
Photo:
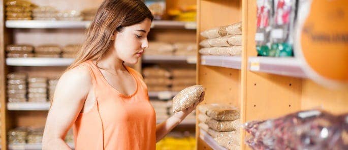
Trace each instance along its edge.
<instances>
[{"instance_id":1,"label":"second-highest back wall shelf section, right of woman's neck","mask_svg":"<svg viewBox=\"0 0 348 150\"><path fill-rule=\"evenodd\" d=\"M196 56L175 56L175 55L144 55L143 63L188 63L196 64Z\"/></svg>"}]
</instances>

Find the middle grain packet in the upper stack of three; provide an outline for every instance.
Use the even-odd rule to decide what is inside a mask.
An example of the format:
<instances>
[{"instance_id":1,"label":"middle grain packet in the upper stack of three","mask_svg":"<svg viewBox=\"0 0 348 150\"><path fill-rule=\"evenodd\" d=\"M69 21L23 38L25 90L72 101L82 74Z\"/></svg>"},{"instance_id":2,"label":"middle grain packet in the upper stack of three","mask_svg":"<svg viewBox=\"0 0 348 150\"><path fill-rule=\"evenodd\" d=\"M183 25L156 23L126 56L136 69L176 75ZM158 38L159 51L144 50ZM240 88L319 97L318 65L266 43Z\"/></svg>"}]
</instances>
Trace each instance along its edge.
<instances>
[{"instance_id":1,"label":"middle grain packet in the upper stack of three","mask_svg":"<svg viewBox=\"0 0 348 150\"><path fill-rule=\"evenodd\" d=\"M213 39L207 39L200 42L202 47L214 47L214 46L234 46L242 45L242 35L225 36Z\"/></svg>"}]
</instances>

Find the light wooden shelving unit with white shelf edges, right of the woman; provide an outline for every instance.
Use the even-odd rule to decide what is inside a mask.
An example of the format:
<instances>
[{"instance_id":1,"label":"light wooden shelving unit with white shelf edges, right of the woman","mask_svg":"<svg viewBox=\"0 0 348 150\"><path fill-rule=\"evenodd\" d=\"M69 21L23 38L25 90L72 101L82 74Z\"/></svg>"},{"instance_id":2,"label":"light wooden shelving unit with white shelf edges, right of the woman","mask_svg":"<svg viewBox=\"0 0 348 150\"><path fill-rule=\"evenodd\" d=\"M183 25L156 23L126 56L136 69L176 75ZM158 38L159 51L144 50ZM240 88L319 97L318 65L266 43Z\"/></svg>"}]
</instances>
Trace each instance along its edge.
<instances>
[{"instance_id":1,"label":"light wooden shelving unit with white shelf edges, right of the woman","mask_svg":"<svg viewBox=\"0 0 348 150\"><path fill-rule=\"evenodd\" d=\"M203 103L240 108L242 123L318 107L334 114L348 112L348 88L332 89L315 83L296 57L257 56L256 1L197 0L197 7L198 43L204 40L200 32L212 27L242 21L243 31L240 59L198 54L197 83L205 87ZM224 65L226 59L240 67ZM205 135L196 125L197 149L221 148ZM243 142L246 136L241 131L241 149L249 149Z\"/></svg>"}]
</instances>

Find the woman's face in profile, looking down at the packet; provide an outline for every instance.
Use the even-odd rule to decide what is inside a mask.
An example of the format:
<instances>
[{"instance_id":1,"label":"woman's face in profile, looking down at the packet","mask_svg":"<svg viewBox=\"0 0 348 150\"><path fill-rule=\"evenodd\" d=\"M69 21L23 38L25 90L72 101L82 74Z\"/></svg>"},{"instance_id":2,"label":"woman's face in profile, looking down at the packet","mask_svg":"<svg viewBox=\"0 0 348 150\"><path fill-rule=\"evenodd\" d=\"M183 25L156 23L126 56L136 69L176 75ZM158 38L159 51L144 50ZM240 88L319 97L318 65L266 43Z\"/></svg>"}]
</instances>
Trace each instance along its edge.
<instances>
[{"instance_id":1,"label":"woman's face in profile, looking down at the packet","mask_svg":"<svg viewBox=\"0 0 348 150\"><path fill-rule=\"evenodd\" d=\"M146 18L139 24L123 27L121 32L115 32L114 48L119 59L128 64L137 64L149 46L147 34L150 31L151 20Z\"/></svg>"}]
</instances>

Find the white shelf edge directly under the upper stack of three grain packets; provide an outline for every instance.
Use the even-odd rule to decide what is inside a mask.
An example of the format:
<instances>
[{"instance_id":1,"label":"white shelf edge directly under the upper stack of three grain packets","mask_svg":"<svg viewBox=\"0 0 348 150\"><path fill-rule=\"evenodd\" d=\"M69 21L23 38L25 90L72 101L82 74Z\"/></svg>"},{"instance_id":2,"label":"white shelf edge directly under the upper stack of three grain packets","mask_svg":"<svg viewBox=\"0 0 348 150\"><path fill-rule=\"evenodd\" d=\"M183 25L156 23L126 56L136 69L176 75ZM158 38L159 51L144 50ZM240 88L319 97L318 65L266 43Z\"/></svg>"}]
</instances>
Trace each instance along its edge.
<instances>
[{"instance_id":1,"label":"white shelf edge directly under the upper stack of three grain packets","mask_svg":"<svg viewBox=\"0 0 348 150\"><path fill-rule=\"evenodd\" d=\"M241 69L242 58L240 56L202 55L201 65Z\"/></svg>"}]
</instances>

